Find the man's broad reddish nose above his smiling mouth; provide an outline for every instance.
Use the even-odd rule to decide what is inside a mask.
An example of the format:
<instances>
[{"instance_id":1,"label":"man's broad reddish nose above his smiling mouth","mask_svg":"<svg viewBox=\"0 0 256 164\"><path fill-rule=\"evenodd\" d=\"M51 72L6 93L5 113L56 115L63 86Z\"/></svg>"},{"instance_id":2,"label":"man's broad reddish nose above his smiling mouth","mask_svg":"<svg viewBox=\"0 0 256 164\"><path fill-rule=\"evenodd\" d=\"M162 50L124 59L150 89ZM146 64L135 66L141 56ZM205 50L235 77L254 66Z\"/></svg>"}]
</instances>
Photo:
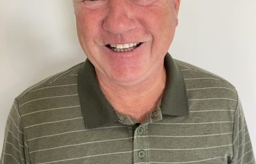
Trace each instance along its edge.
<instances>
[{"instance_id":1,"label":"man's broad reddish nose above his smiling mouth","mask_svg":"<svg viewBox=\"0 0 256 164\"><path fill-rule=\"evenodd\" d=\"M108 13L104 19L103 28L112 34L124 34L135 28L135 19L129 1L108 1Z\"/></svg>"}]
</instances>

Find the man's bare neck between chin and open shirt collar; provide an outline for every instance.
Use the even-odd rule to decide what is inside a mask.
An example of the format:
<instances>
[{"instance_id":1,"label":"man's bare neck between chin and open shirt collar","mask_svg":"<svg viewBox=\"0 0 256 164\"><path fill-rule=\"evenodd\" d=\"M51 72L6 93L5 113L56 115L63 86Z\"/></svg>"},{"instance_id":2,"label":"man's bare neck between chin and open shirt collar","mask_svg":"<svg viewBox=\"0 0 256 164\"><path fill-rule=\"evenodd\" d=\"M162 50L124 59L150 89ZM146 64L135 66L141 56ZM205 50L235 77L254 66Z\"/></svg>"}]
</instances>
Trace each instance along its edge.
<instances>
[{"instance_id":1,"label":"man's bare neck between chin and open shirt collar","mask_svg":"<svg viewBox=\"0 0 256 164\"><path fill-rule=\"evenodd\" d=\"M129 115L140 122L156 108L166 85L164 67L156 71L154 75L132 86L108 81L107 78L98 73L97 77L102 92L113 108L117 112Z\"/></svg>"}]
</instances>

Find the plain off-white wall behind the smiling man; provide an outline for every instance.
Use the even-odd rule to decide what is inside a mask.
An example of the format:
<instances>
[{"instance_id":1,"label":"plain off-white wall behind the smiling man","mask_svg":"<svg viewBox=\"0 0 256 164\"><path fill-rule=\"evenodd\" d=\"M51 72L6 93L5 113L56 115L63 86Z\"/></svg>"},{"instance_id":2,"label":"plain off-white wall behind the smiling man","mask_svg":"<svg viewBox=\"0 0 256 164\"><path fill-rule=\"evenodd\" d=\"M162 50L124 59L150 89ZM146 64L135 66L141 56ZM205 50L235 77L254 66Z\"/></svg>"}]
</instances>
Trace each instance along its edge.
<instances>
[{"instance_id":1,"label":"plain off-white wall behind the smiling man","mask_svg":"<svg viewBox=\"0 0 256 164\"><path fill-rule=\"evenodd\" d=\"M255 9L255 0L181 0L169 52L236 86L256 152ZM13 99L85 58L71 0L0 0L0 154Z\"/></svg>"}]
</instances>

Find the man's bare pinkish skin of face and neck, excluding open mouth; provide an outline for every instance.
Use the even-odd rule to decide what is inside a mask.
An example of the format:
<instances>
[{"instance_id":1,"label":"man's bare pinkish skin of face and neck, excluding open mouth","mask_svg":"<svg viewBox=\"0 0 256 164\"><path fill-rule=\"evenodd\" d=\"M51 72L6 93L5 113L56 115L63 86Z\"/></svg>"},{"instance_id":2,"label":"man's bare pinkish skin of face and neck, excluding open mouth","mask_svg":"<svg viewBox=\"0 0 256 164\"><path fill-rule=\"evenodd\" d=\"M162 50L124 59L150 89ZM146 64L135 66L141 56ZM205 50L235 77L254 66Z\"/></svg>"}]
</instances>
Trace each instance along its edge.
<instances>
[{"instance_id":1,"label":"man's bare pinkish skin of face and neck, excluding open mouth","mask_svg":"<svg viewBox=\"0 0 256 164\"><path fill-rule=\"evenodd\" d=\"M73 0L79 42L110 104L142 121L164 91L180 0ZM130 52L106 44L141 42ZM148 101L150 99L150 102Z\"/></svg>"}]
</instances>

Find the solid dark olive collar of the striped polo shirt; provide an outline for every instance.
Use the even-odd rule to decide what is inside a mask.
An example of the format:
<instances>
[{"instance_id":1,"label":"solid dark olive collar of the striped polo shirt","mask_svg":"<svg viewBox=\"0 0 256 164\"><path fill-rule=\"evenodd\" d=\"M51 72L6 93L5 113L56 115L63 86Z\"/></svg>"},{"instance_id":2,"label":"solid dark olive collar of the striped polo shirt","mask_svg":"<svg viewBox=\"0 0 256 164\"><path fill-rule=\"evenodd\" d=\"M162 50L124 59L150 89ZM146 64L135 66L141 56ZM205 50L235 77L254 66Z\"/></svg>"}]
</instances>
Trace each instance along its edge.
<instances>
[{"instance_id":1,"label":"solid dark olive collar of the striped polo shirt","mask_svg":"<svg viewBox=\"0 0 256 164\"><path fill-rule=\"evenodd\" d=\"M160 104L161 112L170 116L187 116L189 107L185 81L168 53L164 58L164 67L167 79ZM114 108L100 90L94 66L88 59L79 70L77 89L86 128L98 128L119 121Z\"/></svg>"}]
</instances>

